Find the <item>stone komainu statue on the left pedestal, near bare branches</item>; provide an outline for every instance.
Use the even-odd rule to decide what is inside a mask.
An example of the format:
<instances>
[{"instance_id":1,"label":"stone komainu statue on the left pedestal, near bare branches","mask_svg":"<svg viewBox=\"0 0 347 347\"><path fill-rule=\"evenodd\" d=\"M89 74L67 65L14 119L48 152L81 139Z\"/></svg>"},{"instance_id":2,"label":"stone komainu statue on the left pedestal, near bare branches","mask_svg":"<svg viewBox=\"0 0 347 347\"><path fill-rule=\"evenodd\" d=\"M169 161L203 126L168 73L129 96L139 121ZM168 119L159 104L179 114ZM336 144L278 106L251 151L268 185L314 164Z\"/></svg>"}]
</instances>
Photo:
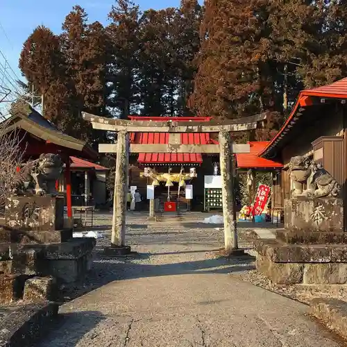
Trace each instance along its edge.
<instances>
[{"instance_id":1,"label":"stone komainu statue on the left pedestal, near bare branches","mask_svg":"<svg viewBox=\"0 0 347 347\"><path fill-rule=\"evenodd\" d=\"M15 184L17 195L56 195L56 180L62 173L63 162L58 154L42 154L36 160L21 165L22 180Z\"/></svg>"}]
</instances>

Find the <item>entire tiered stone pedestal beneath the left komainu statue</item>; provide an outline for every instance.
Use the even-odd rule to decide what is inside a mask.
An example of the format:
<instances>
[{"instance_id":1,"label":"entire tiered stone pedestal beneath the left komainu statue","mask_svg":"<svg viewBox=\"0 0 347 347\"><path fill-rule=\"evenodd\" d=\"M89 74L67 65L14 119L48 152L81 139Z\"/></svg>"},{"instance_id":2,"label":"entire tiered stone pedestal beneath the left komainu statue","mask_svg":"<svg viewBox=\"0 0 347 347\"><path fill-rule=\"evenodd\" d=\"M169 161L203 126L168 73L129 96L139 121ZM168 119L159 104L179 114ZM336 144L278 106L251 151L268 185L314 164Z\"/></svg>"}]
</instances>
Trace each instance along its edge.
<instances>
[{"instance_id":1,"label":"entire tiered stone pedestal beneath the left komainu statue","mask_svg":"<svg viewBox=\"0 0 347 347\"><path fill-rule=\"evenodd\" d=\"M63 198L12 196L0 228L0 301L52 300L56 282L81 280L92 261L93 238L63 229Z\"/></svg>"}]
</instances>

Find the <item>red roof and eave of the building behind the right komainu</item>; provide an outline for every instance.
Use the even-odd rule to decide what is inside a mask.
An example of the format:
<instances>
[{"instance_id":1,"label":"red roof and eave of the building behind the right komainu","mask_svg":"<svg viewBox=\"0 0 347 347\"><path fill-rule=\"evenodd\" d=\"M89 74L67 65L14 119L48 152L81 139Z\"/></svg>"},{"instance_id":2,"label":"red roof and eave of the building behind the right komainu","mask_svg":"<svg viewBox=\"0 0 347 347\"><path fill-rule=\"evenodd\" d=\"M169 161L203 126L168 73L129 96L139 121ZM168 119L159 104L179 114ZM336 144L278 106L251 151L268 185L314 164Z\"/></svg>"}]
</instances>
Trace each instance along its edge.
<instances>
[{"instance_id":1,"label":"red roof and eave of the building behind the right komainu","mask_svg":"<svg viewBox=\"0 0 347 347\"><path fill-rule=\"evenodd\" d=\"M332 98L332 99L347 99L347 78L342 78L341 80L331 83L330 85L323 85L321 87L302 90L296 103L291 109L290 115L282 125L282 128L278 130L275 137L267 144L264 149L262 149L260 156L264 157L269 155L271 151L276 148L276 145L285 137L286 133L289 133L290 128L296 123L298 116L301 116L301 108L310 106L313 104L312 96ZM298 112L299 111L299 112Z\"/></svg>"}]
</instances>

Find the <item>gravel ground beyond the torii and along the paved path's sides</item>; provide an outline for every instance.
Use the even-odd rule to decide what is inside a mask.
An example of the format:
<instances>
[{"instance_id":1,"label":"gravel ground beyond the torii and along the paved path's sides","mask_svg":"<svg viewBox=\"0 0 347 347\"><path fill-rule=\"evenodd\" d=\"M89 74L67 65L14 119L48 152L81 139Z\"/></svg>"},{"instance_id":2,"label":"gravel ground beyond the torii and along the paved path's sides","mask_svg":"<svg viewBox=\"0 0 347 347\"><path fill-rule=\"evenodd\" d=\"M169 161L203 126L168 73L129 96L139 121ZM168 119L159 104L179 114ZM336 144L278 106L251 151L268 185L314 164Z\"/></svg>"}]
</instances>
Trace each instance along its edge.
<instances>
[{"instance_id":1,"label":"gravel ground beyond the torii and along the paved path's sides","mask_svg":"<svg viewBox=\"0 0 347 347\"><path fill-rule=\"evenodd\" d=\"M223 246L223 226L201 223L209 216L210 214L192 212L183 217L159 217L159 221L149 222L146 221L146 214L129 214L127 243L133 251L139 253L134 257L111 259L104 257L102 251L110 244L112 219L110 214L96 214L94 229L101 230L104 237L97 241L92 270L82 283L62 288L61 301L69 301L114 280L137 276L135 272L139 264L175 262L181 252L192 251L192 245L194 251L205 250L205 258L216 259L218 256L214 251ZM255 239L253 228L251 225L246 228L244 226L245 223L242 223L242 227L238 226L237 229L239 246L245 248L251 257L248 257L246 262L241 259L235 260L235 264L228 264L231 268L239 266L238 271L230 271L230 276L305 304L310 304L314 298L338 298L347 301L347 285L275 285L262 276L262 273L255 270L255 252L252 251ZM183 249L180 247L179 252L178 244L183 245ZM198 253L192 252L188 259L194 261L197 255Z\"/></svg>"}]
</instances>

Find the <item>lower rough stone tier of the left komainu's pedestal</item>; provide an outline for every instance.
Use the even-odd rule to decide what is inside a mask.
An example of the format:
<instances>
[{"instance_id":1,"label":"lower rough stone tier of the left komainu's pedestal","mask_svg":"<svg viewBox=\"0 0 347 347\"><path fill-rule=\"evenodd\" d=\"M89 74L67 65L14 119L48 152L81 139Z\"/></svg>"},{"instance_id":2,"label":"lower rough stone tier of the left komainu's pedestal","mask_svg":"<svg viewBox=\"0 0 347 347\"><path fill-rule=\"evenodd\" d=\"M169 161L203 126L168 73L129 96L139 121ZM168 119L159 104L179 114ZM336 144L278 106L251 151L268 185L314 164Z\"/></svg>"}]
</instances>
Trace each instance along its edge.
<instances>
[{"instance_id":1,"label":"lower rough stone tier of the left komainu's pedestal","mask_svg":"<svg viewBox=\"0 0 347 347\"><path fill-rule=\"evenodd\" d=\"M61 244L10 244L12 259L0 260L0 302L51 300L58 284L81 280L90 270L94 238ZM7 253L0 244L0 256ZM36 295L37 294L37 295Z\"/></svg>"}]
</instances>

